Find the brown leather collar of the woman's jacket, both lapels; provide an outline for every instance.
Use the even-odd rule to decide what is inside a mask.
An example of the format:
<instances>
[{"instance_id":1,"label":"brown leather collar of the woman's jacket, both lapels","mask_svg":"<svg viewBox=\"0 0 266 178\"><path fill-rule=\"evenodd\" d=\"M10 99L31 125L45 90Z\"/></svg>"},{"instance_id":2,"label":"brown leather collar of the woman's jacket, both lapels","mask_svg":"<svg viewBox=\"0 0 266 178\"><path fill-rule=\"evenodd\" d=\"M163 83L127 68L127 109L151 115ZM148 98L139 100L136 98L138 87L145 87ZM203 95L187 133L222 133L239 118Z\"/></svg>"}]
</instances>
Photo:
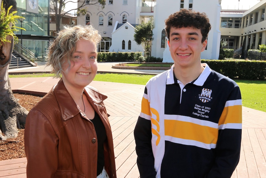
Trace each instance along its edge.
<instances>
[{"instance_id":1,"label":"brown leather collar of the woman's jacket, both lapels","mask_svg":"<svg viewBox=\"0 0 266 178\"><path fill-rule=\"evenodd\" d=\"M56 100L59 104L60 114L63 120L67 120L81 113L81 110L78 108L68 90L65 88L62 79L60 79L59 82L53 87L53 90ZM95 108L95 104L99 104L107 98L107 96L99 93L96 89L90 86L85 87L84 93L94 110L97 109Z\"/></svg>"}]
</instances>

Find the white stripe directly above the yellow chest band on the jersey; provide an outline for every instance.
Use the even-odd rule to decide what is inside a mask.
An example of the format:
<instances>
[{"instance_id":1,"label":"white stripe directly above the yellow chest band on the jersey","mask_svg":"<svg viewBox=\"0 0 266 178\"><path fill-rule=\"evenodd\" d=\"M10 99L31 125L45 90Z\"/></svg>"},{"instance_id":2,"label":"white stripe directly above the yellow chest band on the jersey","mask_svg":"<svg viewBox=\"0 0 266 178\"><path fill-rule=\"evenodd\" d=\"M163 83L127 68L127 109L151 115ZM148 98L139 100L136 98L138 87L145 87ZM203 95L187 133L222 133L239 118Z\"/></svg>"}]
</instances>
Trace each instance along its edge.
<instances>
[{"instance_id":1,"label":"white stripe directly above the yellow chest band on the jersey","mask_svg":"<svg viewBox=\"0 0 266 178\"><path fill-rule=\"evenodd\" d=\"M201 119L195 119L193 117L188 117L188 116L183 116L183 115L164 115L164 118L167 118L165 120L178 120L178 121L183 121L183 122L190 122L202 126L208 126L211 128L218 128L218 124L207 121L207 120L201 120Z\"/></svg>"}]
</instances>

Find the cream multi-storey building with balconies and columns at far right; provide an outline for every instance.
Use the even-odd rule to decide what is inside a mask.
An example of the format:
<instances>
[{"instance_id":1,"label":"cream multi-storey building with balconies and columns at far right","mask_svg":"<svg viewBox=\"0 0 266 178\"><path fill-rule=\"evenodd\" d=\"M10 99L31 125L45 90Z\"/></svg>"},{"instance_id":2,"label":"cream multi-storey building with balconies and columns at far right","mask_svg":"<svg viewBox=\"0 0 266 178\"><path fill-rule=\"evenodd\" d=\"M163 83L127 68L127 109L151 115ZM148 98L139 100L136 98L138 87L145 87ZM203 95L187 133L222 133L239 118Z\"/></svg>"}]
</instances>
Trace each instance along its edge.
<instances>
[{"instance_id":1,"label":"cream multi-storey building with balconies and columns at far right","mask_svg":"<svg viewBox=\"0 0 266 178\"><path fill-rule=\"evenodd\" d=\"M237 50L259 49L266 44L266 0L260 0L248 10L221 10L220 31L222 48Z\"/></svg>"}]
</instances>

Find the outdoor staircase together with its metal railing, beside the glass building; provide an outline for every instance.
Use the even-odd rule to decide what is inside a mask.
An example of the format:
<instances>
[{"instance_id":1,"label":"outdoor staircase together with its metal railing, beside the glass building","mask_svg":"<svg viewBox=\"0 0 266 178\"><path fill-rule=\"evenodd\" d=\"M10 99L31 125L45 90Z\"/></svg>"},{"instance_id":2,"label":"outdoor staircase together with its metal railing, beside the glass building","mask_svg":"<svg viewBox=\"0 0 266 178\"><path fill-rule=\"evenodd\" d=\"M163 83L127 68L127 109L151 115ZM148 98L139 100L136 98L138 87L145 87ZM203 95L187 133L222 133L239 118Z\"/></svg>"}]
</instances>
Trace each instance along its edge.
<instances>
[{"instance_id":1,"label":"outdoor staircase together with its metal railing, beside the glass building","mask_svg":"<svg viewBox=\"0 0 266 178\"><path fill-rule=\"evenodd\" d=\"M12 51L12 58L8 69L17 69L22 67L36 66L34 53L22 46L20 43L15 44Z\"/></svg>"}]
</instances>

